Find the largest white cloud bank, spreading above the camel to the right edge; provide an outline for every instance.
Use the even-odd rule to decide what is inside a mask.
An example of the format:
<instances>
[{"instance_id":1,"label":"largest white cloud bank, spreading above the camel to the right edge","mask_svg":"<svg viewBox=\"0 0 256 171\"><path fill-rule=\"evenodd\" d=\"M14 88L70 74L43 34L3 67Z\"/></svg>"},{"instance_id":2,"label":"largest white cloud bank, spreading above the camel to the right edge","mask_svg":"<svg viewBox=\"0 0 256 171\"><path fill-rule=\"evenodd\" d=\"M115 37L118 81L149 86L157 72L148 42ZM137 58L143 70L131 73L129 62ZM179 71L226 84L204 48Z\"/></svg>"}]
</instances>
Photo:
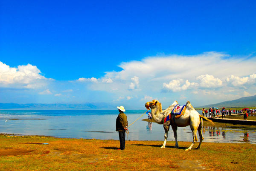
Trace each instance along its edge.
<instances>
[{"instance_id":1,"label":"largest white cloud bank, spreading above the camel to the right edge","mask_svg":"<svg viewBox=\"0 0 256 171\"><path fill-rule=\"evenodd\" d=\"M218 52L146 57L122 62L122 71L106 72L90 89L116 94L116 98L120 93L122 97L138 97L129 101L153 97L166 101L194 99L198 105L217 103L244 97L244 90L247 95L256 94L255 63L255 57L231 57ZM104 79L112 81L107 85ZM122 100L128 99L119 98Z\"/></svg>"}]
</instances>

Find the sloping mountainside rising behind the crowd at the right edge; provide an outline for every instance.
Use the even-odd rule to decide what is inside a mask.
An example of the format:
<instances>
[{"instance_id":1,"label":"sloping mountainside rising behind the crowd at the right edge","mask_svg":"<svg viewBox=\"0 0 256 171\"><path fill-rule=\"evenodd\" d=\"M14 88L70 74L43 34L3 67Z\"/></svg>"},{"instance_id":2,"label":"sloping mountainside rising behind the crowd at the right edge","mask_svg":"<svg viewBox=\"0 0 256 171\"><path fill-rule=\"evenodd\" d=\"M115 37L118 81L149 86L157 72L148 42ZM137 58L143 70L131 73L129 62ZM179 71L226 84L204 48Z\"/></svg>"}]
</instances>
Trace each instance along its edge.
<instances>
[{"instance_id":1,"label":"sloping mountainside rising behind the crowd at the right edge","mask_svg":"<svg viewBox=\"0 0 256 171\"><path fill-rule=\"evenodd\" d=\"M236 100L224 101L221 103L198 106L196 108L209 108L209 107L256 107L256 95L250 97L242 97Z\"/></svg>"}]
</instances>

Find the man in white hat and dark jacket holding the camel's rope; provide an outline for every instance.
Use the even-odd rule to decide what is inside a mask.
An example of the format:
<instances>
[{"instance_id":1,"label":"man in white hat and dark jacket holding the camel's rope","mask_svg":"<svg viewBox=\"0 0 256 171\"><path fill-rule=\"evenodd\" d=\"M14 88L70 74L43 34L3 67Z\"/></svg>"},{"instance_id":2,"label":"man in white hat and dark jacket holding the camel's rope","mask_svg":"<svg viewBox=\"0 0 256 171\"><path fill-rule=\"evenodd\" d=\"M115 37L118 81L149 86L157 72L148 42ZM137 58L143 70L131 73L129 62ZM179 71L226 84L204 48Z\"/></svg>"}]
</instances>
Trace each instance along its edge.
<instances>
[{"instance_id":1,"label":"man in white hat and dark jacket holding the camel's rope","mask_svg":"<svg viewBox=\"0 0 256 171\"><path fill-rule=\"evenodd\" d=\"M116 131L118 131L119 134L119 141L120 141L120 148L118 150L124 150L125 149L125 130L127 130L128 127L128 121L127 116L124 113L125 108L124 106L117 106L119 114L116 118Z\"/></svg>"}]
</instances>

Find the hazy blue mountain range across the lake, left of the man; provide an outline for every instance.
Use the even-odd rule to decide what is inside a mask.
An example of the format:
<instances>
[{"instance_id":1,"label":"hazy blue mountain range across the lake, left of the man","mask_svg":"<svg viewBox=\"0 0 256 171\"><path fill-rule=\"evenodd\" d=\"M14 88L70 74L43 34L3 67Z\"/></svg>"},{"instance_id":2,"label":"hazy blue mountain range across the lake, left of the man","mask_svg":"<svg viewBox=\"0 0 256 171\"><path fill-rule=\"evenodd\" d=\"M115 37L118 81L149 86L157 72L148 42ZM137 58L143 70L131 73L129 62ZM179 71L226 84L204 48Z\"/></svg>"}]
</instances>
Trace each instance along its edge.
<instances>
[{"instance_id":1,"label":"hazy blue mountain range across the lake, left of the man","mask_svg":"<svg viewBox=\"0 0 256 171\"><path fill-rule=\"evenodd\" d=\"M0 109L29 109L29 110L65 110L65 109L111 109L113 106L107 103L84 104L42 104L42 103L0 103Z\"/></svg>"}]
</instances>

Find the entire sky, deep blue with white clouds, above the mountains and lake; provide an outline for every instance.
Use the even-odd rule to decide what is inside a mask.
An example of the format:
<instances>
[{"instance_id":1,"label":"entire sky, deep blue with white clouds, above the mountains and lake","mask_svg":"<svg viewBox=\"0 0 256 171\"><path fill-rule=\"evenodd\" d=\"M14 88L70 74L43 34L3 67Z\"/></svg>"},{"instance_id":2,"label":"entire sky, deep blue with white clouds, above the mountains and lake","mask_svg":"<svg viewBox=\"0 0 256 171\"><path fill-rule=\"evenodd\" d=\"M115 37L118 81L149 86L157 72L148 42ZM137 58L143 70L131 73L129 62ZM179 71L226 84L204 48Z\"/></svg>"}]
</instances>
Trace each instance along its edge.
<instances>
[{"instance_id":1,"label":"entire sky, deep blue with white clouds, above the mountains and lake","mask_svg":"<svg viewBox=\"0 0 256 171\"><path fill-rule=\"evenodd\" d=\"M0 103L256 94L256 1L1 1Z\"/></svg>"}]
</instances>

